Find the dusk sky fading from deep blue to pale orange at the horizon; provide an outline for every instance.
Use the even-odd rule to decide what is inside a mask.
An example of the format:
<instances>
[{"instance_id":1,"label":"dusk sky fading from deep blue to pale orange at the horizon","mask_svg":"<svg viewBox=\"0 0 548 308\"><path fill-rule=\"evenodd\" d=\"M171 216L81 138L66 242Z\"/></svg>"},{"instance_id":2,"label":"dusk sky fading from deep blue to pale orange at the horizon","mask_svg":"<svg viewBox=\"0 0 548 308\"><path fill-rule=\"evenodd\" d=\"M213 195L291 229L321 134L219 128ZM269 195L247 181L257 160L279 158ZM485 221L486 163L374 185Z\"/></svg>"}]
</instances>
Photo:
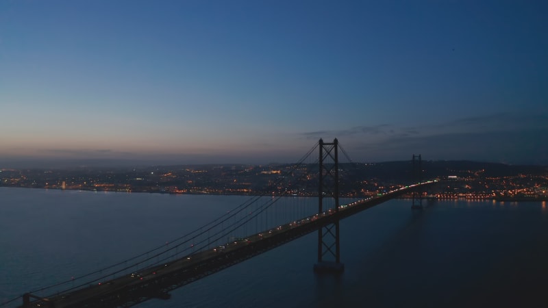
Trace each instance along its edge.
<instances>
[{"instance_id":1,"label":"dusk sky fading from deep blue to pale orange at the horizon","mask_svg":"<svg viewBox=\"0 0 548 308\"><path fill-rule=\"evenodd\" d=\"M13 160L548 164L546 1L2 1Z\"/></svg>"}]
</instances>

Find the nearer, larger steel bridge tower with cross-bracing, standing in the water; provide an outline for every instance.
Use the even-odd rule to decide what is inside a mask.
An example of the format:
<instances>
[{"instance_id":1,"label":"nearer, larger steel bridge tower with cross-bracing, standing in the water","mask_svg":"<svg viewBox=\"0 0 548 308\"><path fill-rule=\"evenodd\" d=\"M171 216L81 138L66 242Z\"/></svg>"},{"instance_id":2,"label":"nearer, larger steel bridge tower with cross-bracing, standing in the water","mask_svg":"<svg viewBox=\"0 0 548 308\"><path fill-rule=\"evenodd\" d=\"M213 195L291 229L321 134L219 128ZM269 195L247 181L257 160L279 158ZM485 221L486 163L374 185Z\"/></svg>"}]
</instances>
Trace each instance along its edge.
<instances>
[{"instance_id":1,"label":"nearer, larger steel bridge tower with cross-bracing, standing in the water","mask_svg":"<svg viewBox=\"0 0 548 308\"><path fill-rule=\"evenodd\" d=\"M338 212L338 140L319 143L319 189L318 214ZM324 208L324 199L333 201L332 207ZM327 260L326 260L327 259ZM339 221L334 220L318 229L318 263L314 264L316 272L343 272L345 266L340 263Z\"/></svg>"}]
</instances>

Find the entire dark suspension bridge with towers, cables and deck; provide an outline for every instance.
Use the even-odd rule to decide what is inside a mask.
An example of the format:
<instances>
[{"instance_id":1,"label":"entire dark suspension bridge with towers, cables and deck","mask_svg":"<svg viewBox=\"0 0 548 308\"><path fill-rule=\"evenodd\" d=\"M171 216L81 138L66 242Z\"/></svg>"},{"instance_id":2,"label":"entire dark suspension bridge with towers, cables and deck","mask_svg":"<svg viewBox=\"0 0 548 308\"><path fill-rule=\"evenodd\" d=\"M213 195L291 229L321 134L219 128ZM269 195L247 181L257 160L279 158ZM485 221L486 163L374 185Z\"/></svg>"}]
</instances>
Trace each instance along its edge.
<instances>
[{"instance_id":1,"label":"entire dark suspension bridge with towers, cables and deck","mask_svg":"<svg viewBox=\"0 0 548 308\"><path fill-rule=\"evenodd\" d=\"M151 298L167 299L172 290L312 232L318 232L314 270L342 272L340 220L403 194L412 196L412 209L421 209L423 192L437 181L422 181L421 157L413 155L413 181L408 185L340 204L339 150L351 161L338 140L319 140L290 171L271 183L279 190L284 185L295 187L295 181L316 181L315 207L299 204L301 198L295 198L296 204L290 205L292 213L280 218L275 213L279 213L277 205L282 195L252 196L171 242L95 272L27 292L4 304L22 300L19 307L132 307ZM302 166L310 164L307 159L317 166L313 175L302 172ZM289 175L293 183L287 183ZM284 206L283 211L287 209Z\"/></svg>"}]
</instances>

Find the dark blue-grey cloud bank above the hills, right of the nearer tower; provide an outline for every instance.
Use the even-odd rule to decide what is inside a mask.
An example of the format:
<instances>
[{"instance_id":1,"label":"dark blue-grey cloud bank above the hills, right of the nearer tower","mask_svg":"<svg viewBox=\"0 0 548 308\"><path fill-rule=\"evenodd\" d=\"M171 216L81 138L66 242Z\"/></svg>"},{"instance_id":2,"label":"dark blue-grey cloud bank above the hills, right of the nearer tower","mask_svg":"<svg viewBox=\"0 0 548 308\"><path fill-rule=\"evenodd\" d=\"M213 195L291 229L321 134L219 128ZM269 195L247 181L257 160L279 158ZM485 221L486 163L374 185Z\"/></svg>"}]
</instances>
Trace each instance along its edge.
<instances>
[{"instance_id":1,"label":"dark blue-grey cloud bank above the hills, right of the nearer tower","mask_svg":"<svg viewBox=\"0 0 548 308\"><path fill-rule=\"evenodd\" d=\"M401 160L422 153L429 159L548 164L548 145L543 141L548 136L546 118L543 114L498 113L436 125L379 125L378 132L365 129L340 140L354 161Z\"/></svg>"}]
</instances>

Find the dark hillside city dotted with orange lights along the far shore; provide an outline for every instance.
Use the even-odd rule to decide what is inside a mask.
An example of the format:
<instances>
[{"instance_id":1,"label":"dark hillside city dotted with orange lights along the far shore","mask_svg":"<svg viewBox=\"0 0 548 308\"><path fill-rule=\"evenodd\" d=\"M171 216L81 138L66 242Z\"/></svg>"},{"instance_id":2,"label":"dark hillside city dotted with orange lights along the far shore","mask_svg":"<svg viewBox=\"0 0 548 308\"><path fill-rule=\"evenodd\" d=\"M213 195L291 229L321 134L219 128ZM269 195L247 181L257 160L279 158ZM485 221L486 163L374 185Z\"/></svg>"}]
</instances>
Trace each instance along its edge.
<instances>
[{"instance_id":1,"label":"dark hillside city dotted with orange lights along the far shore","mask_svg":"<svg viewBox=\"0 0 548 308\"><path fill-rule=\"evenodd\" d=\"M428 193L437 198L548 200L548 170L486 171L449 162L424 164L424 179L440 179ZM428 170L428 167L430 170ZM405 163L340 166L342 197L375 196L420 179L412 179ZM75 168L70 170L0 170L0 186L108 192L171 194L254 194L316 196L319 170L315 165L291 164L153 166L147 168Z\"/></svg>"}]
</instances>

